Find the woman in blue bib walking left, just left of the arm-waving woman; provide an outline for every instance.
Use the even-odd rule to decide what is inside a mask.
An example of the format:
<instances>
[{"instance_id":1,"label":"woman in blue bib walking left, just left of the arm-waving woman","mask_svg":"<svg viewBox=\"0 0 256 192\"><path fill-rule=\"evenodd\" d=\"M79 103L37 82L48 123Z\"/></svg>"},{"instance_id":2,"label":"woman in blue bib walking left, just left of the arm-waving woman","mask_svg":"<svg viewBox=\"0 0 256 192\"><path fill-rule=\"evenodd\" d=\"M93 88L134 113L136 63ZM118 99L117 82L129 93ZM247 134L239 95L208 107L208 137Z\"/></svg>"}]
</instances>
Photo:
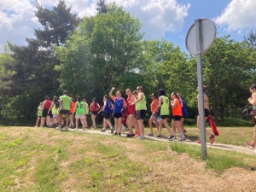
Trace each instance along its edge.
<instances>
[{"instance_id":1,"label":"woman in blue bib walking left, just left of the arm-waving woman","mask_svg":"<svg viewBox=\"0 0 256 192\"><path fill-rule=\"evenodd\" d=\"M104 96L103 99L104 99L104 105L103 105L102 111L103 111L104 124L102 128L102 132L105 132L107 124L110 130L113 130L113 126L109 120L111 116L111 110L113 109L113 104L112 102L109 101L109 96L106 95Z\"/></svg>"}]
</instances>

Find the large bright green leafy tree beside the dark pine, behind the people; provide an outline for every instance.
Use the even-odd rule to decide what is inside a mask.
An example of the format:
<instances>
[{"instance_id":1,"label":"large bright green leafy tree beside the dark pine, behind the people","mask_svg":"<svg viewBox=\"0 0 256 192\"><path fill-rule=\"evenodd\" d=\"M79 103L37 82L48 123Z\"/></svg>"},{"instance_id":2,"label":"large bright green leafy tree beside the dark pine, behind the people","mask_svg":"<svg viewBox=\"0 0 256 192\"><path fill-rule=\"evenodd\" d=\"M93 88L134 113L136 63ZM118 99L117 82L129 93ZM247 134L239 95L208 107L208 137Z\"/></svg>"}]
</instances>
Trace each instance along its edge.
<instances>
[{"instance_id":1,"label":"large bright green leafy tree beside the dark pine, behind the people","mask_svg":"<svg viewBox=\"0 0 256 192\"><path fill-rule=\"evenodd\" d=\"M131 83L130 75L142 66L141 23L115 3L107 9L106 15L84 18L67 46L55 51L61 60L61 86L75 89L74 94L90 90L90 96L102 96L113 85Z\"/></svg>"}]
</instances>

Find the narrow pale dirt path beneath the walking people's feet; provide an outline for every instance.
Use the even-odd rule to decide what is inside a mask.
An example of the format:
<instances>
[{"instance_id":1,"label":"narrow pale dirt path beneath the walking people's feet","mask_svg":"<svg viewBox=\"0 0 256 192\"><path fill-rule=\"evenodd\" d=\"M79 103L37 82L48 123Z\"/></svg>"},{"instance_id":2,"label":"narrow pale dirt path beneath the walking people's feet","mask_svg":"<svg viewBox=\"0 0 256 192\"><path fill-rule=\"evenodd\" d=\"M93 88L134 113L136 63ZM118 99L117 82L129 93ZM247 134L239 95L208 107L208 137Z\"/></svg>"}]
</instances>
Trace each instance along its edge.
<instances>
[{"instance_id":1,"label":"narrow pale dirt path beneath the walking people's feet","mask_svg":"<svg viewBox=\"0 0 256 192\"><path fill-rule=\"evenodd\" d=\"M69 129L69 131L75 131L73 129ZM106 132L102 132L100 130L86 130L83 131L82 129L79 129L79 131L82 131L84 133L91 133L91 134L101 134L101 135L106 135L106 136L113 136L110 131L106 131ZM122 133L122 137L126 137L126 133ZM156 140L156 141L160 141L160 142L170 142L167 138L154 138L154 137L147 137L146 139L149 140ZM178 141L172 141L172 142L177 142L180 143ZM183 141L181 143L186 143L186 144L193 144L193 145L197 145L200 146L201 144L195 143L195 142L191 142L191 141ZM247 147L242 147L242 146L236 146L236 145L228 145L228 144L222 144L222 143L213 143L212 145L210 143L207 143L207 148L218 148L221 150L227 150L227 151L236 151L237 153L242 153L242 154L251 154L251 155L256 155L256 150L247 148Z\"/></svg>"}]
</instances>

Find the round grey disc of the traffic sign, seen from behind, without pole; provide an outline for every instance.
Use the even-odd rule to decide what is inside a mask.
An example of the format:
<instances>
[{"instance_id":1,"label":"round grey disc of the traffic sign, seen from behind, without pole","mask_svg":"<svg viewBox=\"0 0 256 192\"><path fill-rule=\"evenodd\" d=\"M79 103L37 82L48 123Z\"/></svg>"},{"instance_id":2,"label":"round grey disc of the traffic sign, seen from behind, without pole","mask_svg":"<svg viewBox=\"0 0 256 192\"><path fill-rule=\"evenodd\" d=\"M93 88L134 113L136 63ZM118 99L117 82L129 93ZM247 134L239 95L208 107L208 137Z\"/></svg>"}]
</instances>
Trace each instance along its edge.
<instances>
[{"instance_id":1,"label":"round grey disc of the traffic sign, seen from behind, without pole","mask_svg":"<svg viewBox=\"0 0 256 192\"><path fill-rule=\"evenodd\" d=\"M212 46L216 38L216 26L212 20L201 20L201 53L206 52ZM186 35L186 48L192 55L198 54L196 50L195 23L190 26L189 32Z\"/></svg>"}]
</instances>

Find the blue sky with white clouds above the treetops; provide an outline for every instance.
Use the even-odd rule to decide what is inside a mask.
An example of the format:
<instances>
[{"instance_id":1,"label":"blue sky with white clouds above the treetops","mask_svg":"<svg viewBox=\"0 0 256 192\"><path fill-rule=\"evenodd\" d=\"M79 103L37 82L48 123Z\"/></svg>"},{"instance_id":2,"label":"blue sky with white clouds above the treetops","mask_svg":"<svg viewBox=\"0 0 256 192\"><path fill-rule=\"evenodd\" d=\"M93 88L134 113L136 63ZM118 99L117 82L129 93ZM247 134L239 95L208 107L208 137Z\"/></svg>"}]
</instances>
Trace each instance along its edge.
<instances>
[{"instance_id":1,"label":"blue sky with white clouds above the treetops","mask_svg":"<svg viewBox=\"0 0 256 192\"><path fill-rule=\"evenodd\" d=\"M97 0L65 0L80 17L96 15ZM113 2L107 0L107 2ZM0 47L10 41L26 45L33 38L34 28L40 26L34 15L36 0L0 0ZM51 8L58 0L38 0ZM143 23L143 39L166 39L183 51L189 27L199 18L211 19L218 37L230 35L242 41L248 33L256 32L256 0L115 0L118 6Z\"/></svg>"}]
</instances>

